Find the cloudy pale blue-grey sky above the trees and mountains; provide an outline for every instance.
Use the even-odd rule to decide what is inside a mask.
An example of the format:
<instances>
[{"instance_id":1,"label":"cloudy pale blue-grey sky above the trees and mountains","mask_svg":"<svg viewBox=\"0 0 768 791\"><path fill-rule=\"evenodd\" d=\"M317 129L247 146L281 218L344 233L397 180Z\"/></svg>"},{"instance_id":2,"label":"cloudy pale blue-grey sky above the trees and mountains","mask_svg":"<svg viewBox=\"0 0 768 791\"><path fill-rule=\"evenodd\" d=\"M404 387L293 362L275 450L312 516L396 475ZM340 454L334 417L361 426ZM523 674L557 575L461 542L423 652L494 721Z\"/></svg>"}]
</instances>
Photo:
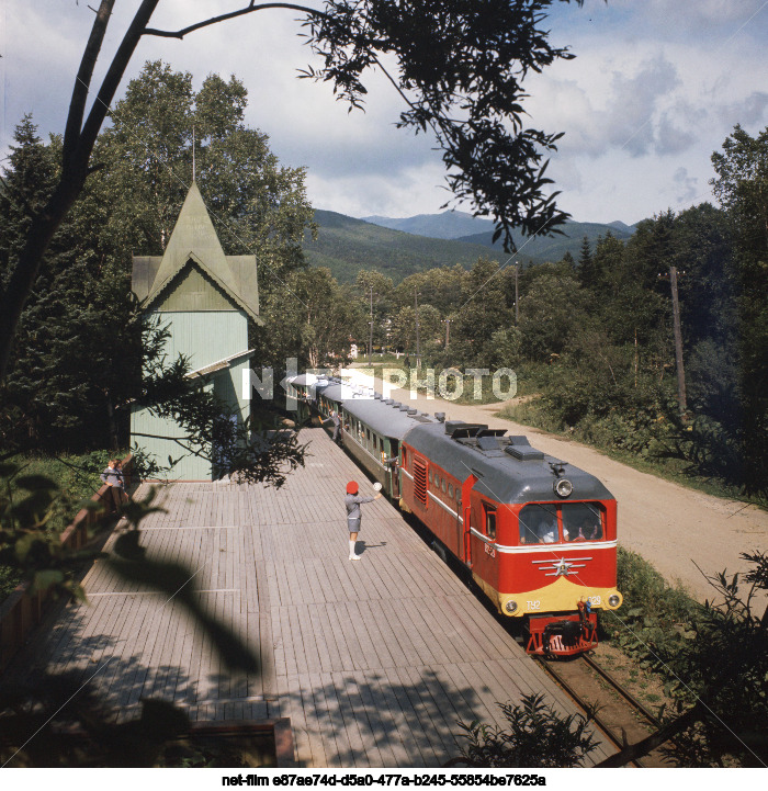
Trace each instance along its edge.
<instances>
[{"instance_id":1,"label":"cloudy pale blue-grey sky above the trees and mountains","mask_svg":"<svg viewBox=\"0 0 768 791\"><path fill-rule=\"evenodd\" d=\"M0 2L0 157L24 112L42 133L63 131L88 2ZM153 24L176 30L245 4L161 0ZM137 5L117 1L105 55ZM358 217L440 211L440 156L428 137L394 128L400 100L381 76L366 82L364 114L349 114L328 86L295 79L312 63L295 18L273 10L184 41L147 38L123 89L160 57L197 87L211 72L235 74L249 91L248 123L270 135L283 163L307 167L316 207ZM532 125L565 132L550 176L576 219L634 223L711 200L712 151L736 123L752 134L768 125L768 0L586 0L555 8L547 26L577 57L530 80L526 108Z\"/></svg>"}]
</instances>

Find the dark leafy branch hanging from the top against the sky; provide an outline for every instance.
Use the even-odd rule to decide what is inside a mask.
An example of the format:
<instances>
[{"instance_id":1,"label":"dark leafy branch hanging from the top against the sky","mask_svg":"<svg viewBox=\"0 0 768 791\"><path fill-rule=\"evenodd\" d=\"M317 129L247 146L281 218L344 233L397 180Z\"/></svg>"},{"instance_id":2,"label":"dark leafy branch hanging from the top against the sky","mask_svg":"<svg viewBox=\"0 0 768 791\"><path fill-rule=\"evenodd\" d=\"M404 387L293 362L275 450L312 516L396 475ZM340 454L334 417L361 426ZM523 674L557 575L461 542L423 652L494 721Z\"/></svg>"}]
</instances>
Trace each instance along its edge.
<instances>
[{"instance_id":1,"label":"dark leafy branch hanging from the top against the sky","mask_svg":"<svg viewBox=\"0 0 768 791\"><path fill-rule=\"evenodd\" d=\"M494 241L502 236L512 249L512 228L547 233L567 217L555 206L557 193L544 192L552 181L543 157L562 135L527 128L522 118L527 75L573 57L553 47L540 26L551 4L331 0L308 23L309 45L324 67L306 75L332 81L339 98L355 106L366 94L363 72L394 58L407 102L398 126L432 131L455 200L493 214Z\"/></svg>"}]
</instances>

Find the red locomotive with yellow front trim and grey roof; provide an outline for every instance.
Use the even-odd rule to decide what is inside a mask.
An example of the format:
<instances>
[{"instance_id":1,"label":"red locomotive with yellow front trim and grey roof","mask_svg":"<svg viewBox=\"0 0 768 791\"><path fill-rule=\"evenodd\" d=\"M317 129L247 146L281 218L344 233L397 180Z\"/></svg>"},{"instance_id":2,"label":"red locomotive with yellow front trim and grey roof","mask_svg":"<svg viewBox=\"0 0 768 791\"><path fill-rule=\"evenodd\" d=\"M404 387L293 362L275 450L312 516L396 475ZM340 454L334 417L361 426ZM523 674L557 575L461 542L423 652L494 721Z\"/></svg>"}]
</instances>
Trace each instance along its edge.
<instances>
[{"instance_id":1,"label":"red locomotive with yellow front trim and grey roof","mask_svg":"<svg viewBox=\"0 0 768 791\"><path fill-rule=\"evenodd\" d=\"M527 619L529 653L587 651L596 610L622 601L615 499L595 476L505 433L415 426L400 447L400 497L499 612Z\"/></svg>"}]
</instances>

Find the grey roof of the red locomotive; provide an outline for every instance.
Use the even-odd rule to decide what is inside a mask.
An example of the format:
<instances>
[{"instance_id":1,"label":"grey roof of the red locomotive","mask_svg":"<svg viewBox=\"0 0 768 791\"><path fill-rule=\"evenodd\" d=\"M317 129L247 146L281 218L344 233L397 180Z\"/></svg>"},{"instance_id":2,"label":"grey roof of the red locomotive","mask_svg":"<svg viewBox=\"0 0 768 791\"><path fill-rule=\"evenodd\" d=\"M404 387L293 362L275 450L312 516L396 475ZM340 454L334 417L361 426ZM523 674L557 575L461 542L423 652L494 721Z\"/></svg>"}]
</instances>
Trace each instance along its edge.
<instances>
[{"instance_id":1,"label":"grey roof of the red locomotive","mask_svg":"<svg viewBox=\"0 0 768 791\"><path fill-rule=\"evenodd\" d=\"M613 499L594 475L531 448L526 437L504 433L504 429L488 431L486 426L453 420L414 425L405 439L462 483L476 475L473 489L498 502ZM557 476L551 463L563 465L562 477L574 487L569 497L561 498L554 493Z\"/></svg>"}]
</instances>

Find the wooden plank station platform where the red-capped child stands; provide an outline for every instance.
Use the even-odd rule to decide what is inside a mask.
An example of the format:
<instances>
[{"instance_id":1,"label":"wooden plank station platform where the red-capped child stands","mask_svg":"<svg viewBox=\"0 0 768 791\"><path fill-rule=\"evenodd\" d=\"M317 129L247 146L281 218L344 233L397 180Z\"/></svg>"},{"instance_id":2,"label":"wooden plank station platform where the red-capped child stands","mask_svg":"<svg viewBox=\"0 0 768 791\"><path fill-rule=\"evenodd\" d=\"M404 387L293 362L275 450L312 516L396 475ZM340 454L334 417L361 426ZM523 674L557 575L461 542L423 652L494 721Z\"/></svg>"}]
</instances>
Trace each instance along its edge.
<instances>
[{"instance_id":1,"label":"wooden plank station platform where the red-capped child stands","mask_svg":"<svg viewBox=\"0 0 768 791\"><path fill-rule=\"evenodd\" d=\"M121 717L147 697L200 720L289 716L304 767L439 767L456 755L458 721L502 724L496 703L530 692L571 713L386 499L363 506L362 560L348 561L345 485L373 491L323 430L302 440L306 467L282 489L163 486L165 512L143 523L148 554L189 567L201 601L260 656L259 674L227 674L178 601L103 563L83 581L90 604L61 608L13 673L91 679Z\"/></svg>"}]
</instances>

